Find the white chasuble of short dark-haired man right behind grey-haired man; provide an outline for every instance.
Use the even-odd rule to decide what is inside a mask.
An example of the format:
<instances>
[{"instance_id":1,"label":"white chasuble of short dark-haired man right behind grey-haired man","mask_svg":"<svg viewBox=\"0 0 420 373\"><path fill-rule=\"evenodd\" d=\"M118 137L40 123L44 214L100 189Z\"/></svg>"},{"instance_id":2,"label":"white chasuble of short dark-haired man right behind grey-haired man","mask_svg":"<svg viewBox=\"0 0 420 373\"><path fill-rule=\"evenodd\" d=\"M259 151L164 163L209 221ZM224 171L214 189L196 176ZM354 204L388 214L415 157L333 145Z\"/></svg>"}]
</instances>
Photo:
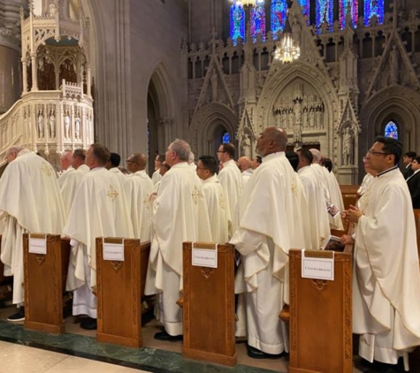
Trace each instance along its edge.
<instances>
[{"instance_id":1,"label":"white chasuble of short dark-haired man right behind grey-haired man","mask_svg":"<svg viewBox=\"0 0 420 373\"><path fill-rule=\"evenodd\" d=\"M213 175L209 179L202 180L202 190L206 197L213 241L226 243L229 240L229 222L225 194L218 177Z\"/></svg>"}]
</instances>

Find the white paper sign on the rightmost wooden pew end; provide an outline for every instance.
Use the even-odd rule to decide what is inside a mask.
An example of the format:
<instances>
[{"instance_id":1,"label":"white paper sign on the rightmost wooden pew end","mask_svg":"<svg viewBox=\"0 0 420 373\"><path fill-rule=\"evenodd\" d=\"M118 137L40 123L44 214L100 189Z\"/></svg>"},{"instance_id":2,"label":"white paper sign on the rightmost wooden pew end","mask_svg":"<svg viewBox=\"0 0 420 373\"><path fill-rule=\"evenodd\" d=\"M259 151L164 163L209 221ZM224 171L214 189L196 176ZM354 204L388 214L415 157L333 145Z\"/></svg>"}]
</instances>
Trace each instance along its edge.
<instances>
[{"instance_id":1,"label":"white paper sign on the rightmost wooden pew end","mask_svg":"<svg viewBox=\"0 0 420 373\"><path fill-rule=\"evenodd\" d=\"M334 280L334 252L302 250L302 278Z\"/></svg>"}]
</instances>

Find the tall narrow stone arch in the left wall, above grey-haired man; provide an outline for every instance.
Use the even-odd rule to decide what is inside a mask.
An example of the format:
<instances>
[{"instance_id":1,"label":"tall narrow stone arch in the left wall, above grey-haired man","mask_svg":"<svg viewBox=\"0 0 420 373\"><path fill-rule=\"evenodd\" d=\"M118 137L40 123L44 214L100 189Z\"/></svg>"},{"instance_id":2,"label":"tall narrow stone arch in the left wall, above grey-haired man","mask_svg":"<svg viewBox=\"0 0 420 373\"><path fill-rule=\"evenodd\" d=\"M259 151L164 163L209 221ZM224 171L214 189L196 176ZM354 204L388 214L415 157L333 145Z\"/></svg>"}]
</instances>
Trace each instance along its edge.
<instances>
[{"instance_id":1,"label":"tall narrow stone arch in the left wall, above grey-haired man","mask_svg":"<svg viewBox=\"0 0 420 373\"><path fill-rule=\"evenodd\" d=\"M157 113L157 148L162 151L179 133L179 128L173 129L179 120L171 75L162 60L151 69L148 87Z\"/></svg>"}]
</instances>

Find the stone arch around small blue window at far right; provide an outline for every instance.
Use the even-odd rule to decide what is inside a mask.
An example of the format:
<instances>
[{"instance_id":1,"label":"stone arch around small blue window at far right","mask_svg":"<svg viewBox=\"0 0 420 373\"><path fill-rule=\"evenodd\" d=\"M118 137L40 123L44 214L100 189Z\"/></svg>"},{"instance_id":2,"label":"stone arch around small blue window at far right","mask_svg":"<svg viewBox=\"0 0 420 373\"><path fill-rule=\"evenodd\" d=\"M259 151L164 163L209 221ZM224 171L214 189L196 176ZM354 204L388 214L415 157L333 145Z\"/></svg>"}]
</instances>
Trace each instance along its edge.
<instances>
[{"instance_id":1,"label":"stone arch around small blue window at far right","mask_svg":"<svg viewBox=\"0 0 420 373\"><path fill-rule=\"evenodd\" d=\"M420 151L420 93L397 86L373 95L361 110L363 141L359 156L362 158L378 134L383 134L387 122L394 120L399 129L404 151Z\"/></svg>"}]
</instances>

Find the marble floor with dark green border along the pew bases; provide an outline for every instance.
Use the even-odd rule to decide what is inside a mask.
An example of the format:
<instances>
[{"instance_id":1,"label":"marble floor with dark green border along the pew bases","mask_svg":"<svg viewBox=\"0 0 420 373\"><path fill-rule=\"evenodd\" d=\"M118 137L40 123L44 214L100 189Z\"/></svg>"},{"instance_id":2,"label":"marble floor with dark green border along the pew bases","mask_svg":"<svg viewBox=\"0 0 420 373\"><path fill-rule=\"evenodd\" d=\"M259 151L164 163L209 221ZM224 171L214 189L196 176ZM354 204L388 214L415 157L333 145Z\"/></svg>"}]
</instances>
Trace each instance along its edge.
<instances>
[{"instance_id":1,"label":"marble floor with dark green border along the pew bases","mask_svg":"<svg viewBox=\"0 0 420 373\"><path fill-rule=\"evenodd\" d=\"M97 343L95 331L80 329L80 319L66 318L66 333L54 336L26 331L23 323L7 323L5 319L16 308L0 309L0 373L14 372L220 372L220 373L286 373L288 357L279 360L255 360L247 356L246 344L236 345L238 364L226 368L183 359L182 342L161 342L153 339L160 326L151 320L142 328L142 348L129 348ZM354 373L365 369L355 359ZM337 372L340 373L340 372Z\"/></svg>"}]
</instances>

